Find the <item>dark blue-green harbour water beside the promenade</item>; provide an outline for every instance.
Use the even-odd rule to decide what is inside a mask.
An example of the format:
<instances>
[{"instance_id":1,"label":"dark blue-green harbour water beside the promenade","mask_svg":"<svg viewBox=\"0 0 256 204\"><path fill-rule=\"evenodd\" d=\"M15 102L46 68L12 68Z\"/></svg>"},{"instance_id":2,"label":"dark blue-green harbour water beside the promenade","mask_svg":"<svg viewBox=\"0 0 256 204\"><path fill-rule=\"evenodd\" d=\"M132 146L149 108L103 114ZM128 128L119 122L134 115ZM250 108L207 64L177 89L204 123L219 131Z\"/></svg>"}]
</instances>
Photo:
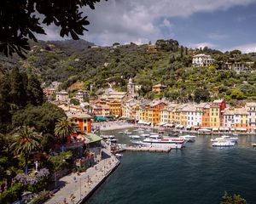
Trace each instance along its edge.
<instances>
[{"instance_id":1,"label":"dark blue-green harbour water beside the promenade","mask_svg":"<svg viewBox=\"0 0 256 204\"><path fill-rule=\"evenodd\" d=\"M152 131L151 131L152 132ZM121 143L127 135L115 134ZM117 170L86 203L219 203L224 190L256 203L256 136L240 136L230 148L213 148L198 136L171 153L125 152Z\"/></svg>"}]
</instances>

